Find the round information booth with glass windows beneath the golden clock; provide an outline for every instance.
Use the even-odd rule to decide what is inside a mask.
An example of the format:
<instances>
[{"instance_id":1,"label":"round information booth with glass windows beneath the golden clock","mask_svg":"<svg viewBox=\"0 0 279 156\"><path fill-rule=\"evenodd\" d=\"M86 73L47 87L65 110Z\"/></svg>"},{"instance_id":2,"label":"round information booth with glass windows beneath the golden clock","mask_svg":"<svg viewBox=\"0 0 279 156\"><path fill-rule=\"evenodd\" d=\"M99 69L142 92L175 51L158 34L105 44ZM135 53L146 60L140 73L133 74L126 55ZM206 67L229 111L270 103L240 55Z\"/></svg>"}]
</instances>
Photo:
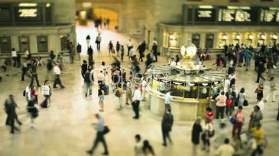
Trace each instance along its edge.
<instances>
[{"instance_id":1,"label":"round information booth with glass windows beneath the golden clock","mask_svg":"<svg viewBox=\"0 0 279 156\"><path fill-rule=\"evenodd\" d=\"M178 121L203 116L205 108L223 90L225 74L210 68L183 70L178 67L157 66L151 71L147 104L151 112L164 114L164 96L171 90L171 113Z\"/></svg>"}]
</instances>

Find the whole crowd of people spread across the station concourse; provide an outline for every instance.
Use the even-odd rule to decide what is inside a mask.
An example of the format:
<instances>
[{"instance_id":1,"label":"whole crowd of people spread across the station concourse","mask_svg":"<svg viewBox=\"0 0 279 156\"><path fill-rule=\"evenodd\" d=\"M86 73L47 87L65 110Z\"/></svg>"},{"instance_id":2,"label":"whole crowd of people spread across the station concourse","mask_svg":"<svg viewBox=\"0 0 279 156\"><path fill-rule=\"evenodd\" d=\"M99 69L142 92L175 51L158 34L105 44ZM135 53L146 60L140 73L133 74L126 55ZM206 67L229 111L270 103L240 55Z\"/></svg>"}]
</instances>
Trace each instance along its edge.
<instances>
[{"instance_id":1,"label":"whole crowd of people spread across the station concourse","mask_svg":"<svg viewBox=\"0 0 279 156\"><path fill-rule=\"evenodd\" d=\"M109 22L107 24L109 24ZM156 41L153 41L150 52L145 55L147 50L145 41L142 41L139 46L137 46L137 49L135 49L131 39L129 39L128 43L126 43L126 49L124 48L124 44L121 44L119 41L117 41L115 45L112 41L110 41L108 43L108 55L113 57L113 62L107 65L105 64L105 61L103 61L101 63L100 70L97 70L97 73L95 73L94 70L97 65L94 63L94 51L90 45L90 39L91 37L87 35L86 41L88 59L83 60L83 64L81 64L81 77L83 77L83 81L85 83L85 97L92 95L92 90L94 89L92 86L94 86L94 82L97 82L100 114L95 115L98 120L98 122L94 124L96 129L96 138L92 148L87 150L87 153L90 155L94 154L96 146L101 142L104 147L103 155L108 155L109 152L108 146L105 142L105 135L110 132L110 129L105 125L105 121L101 114L105 111L105 95L110 94L115 96L118 101L116 109L119 111L123 110L124 104L126 104L127 107L131 106L133 112L135 113L133 119L140 119L140 106L141 102L145 100L145 89L149 83L149 79L144 77L144 72L153 68L155 63L158 61L158 45ZM96 50L98 52L101 51L101 41L101 34L99 34L95 39ZM76 48L74 48L73 43L70 42L68 50L71 64L74 63L75 53L78 54L78 59L81 60L81 44L78 43ZM124 61L126 50L127 57L131 65L128 70L122 68L121 66L121 62ZM170 58L169 50L170 49L168 49L167 52L167 61L169 61L169 66L177 66L180 63L180 57L177 55L176 59ZM136 52L138 52L138 54L136 54ZM216 104L212 107L206 108L204 116L197 117L196 121L194 121L194 124L191 126L193 155L197 154L197 146L200 144L200 141L203 142L202 149L209 153L212 138L215 138L214 145L216 146L216 155L236 155L236 153L241 150L242 147L239 142L242 142L245 114L248 113L244 110L244 107L248 106L248 103L250 102L248 102L248 98L246 97L245 88L241 88L239 91L236 88L237 77L235 75L235 71L237 68L241 68L242 66L246 66L246 71L249 70L249 67L251 66L251 59L255 59L255 71L257 71L256 82L259 84L257 85L257 88L255 88L257 104L253 106L253 112L250 113L247 131L251 134L251 142L255 145L252 148L251 155L254 156L263 153L264 130L262 128L262 119L264 118L264 102L267 102L269 97L272 97L272 102L276 101L275 92L277 88L276 83L274 82L275 77L273 75L273 70L277 66L278 52L278 46L273 46L273 48L269 49L266 46L259 45L257 48L253 49L250 47L247 48L243 45L239 46L237 44L236 46L225 46L224 55L217 55L217 70L226 70L227 75L223 88L219 88L219 93L212 97L212 99L216 100ZM62 55L58 55L56 57L53 51L50 52L47 59L47 72L44 85L41 86L38 80L37 68L38 66L44 66L42 58L34 59L28 53L24 62L21 63L21 59L14 49L12 49L11 54L11 57L5 61L6 75L10 75L10 68L22 67L22 81L25 81L25 75L31 78L31 83L26 87L23 95L26 98L26 110L31 118L31 128L33 128L34 120L39 115L38 106L47 108L51 104L51 95L53 94L53 91L49 78L52 71L55 75L53 88L57 88L57 85L60 85L61 88L65 88L60 79L61 72L65 70L63 57ZM196 57L198 62L211 59L209 49L206 49L205 52L198 50ZM144 58L146 58L146 69L143 72L143 70L140 69L140 64L144 61ZM266 78L264 78L262 74L266 72L266 68L268 69L267 79L269 79L269 94L264 97L264 92L267 89L264 88L264 81ZM128 79L126 77L128 77ZM36 81L37 88L42 88L41 94L44 97L42 103L38 100L40 92L33 85L34 80ZM112 91L112 93L110 93L110 91ZM124 98L124 96L126 98ZM165 108L161 121L162 146L167 146L167 141L169 144L173 144L173 140L170 135L174 125L174 116L171 112L171 99L174 99L174 97L171 96L171 90L169 90L164 97ZM123 100L125 101L124 104ZM22 125L22 122L19 121L17 117L16 108L17 104L15 99L13 95L10 95L5 101L5 110L7 113L6 125L10 126L10 133L15 133L15 130L19 130L19 128L15 126L15 121L17 121L19 125ZM217 127L215 124L219 126L217 132L215 132L215 130L217 130L215 129ZM224 130L228 124L232 124L233 126L231 137L228 137L226 130ZM135 135L134 150L135 155L137 156L155 155L155 151L149 141L146 139L142 142L140 134Z\"/></svg>"}]
</instances>

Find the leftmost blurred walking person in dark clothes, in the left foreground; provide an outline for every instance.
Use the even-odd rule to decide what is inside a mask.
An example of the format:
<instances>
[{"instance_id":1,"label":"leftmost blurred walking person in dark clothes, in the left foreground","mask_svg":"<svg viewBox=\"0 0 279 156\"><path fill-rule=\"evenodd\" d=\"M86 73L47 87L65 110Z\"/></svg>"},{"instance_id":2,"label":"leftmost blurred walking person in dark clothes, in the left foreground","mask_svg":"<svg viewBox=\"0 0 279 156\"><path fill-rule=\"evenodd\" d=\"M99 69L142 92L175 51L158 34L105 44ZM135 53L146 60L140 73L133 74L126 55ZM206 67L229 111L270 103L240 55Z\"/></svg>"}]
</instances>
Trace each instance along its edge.
<instances>
[{"instance_id":1,"label":"leftmost blurred walking person in dark clothes, in the left foreground","mask_svg":"<svg viewBox=\"0 0 279 156\"><path fill-rule=\"evenodd\" d=\"M8 99L5 101L5 111L7 113L6 125L10 126L10 133L15 133L15 130L19 130L19 128L15 127L15 120L17 124L22 125L22 122L19 121L17 117L17 113L15 108L19 108L15 103L15 99L13 95L9 95Z\"/></svg>"}]
</instances>

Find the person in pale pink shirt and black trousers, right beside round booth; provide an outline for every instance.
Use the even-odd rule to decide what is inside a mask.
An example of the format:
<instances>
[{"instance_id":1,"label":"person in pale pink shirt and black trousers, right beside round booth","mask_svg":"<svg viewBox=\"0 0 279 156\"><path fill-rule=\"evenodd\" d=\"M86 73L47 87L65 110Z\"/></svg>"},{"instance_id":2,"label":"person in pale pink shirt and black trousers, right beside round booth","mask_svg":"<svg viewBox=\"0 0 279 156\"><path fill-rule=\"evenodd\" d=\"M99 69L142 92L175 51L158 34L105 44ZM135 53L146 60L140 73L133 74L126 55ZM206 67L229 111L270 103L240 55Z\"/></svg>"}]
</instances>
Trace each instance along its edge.
<instances>
[{"instance_id":1,"label":"person in pale pink shirt and black trousers, right beside round booth","mask_svg":"<svg viewBox=\"0 0 279 156\"><path fill-rule=\"evenodd\" d=\"M219 117L221 117L221 119L223 119L223 115L225 112L225 108L226 108L226 99L227 97L225 96L225 93L222 91L220 95L218 95L215 100L217 100L216 102L216 119L219 119Z\"/></svg>"}]
</instances>

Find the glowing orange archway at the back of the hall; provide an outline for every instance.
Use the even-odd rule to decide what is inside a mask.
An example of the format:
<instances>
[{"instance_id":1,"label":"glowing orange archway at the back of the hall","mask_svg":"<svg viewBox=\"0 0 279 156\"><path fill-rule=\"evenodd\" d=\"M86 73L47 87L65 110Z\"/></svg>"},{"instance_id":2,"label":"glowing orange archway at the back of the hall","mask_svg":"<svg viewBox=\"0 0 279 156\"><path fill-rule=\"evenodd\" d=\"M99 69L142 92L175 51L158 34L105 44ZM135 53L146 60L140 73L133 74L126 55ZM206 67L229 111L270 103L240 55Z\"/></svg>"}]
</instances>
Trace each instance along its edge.
<instances>
[{"instance_id":1,"label":"glowing orange archway at the back of the hall","mask_svg":"<svg viewBox=\"0 0 279 156\"><path fill-rule=\"evenodd\" d=\"M119 14L113 10L108 10L105 8L93 8L92 14L94 19L102 19L103 28L118 29L119 24ZM107 24L107 22L109 24Z\"/></svg>"}]
</instances>

